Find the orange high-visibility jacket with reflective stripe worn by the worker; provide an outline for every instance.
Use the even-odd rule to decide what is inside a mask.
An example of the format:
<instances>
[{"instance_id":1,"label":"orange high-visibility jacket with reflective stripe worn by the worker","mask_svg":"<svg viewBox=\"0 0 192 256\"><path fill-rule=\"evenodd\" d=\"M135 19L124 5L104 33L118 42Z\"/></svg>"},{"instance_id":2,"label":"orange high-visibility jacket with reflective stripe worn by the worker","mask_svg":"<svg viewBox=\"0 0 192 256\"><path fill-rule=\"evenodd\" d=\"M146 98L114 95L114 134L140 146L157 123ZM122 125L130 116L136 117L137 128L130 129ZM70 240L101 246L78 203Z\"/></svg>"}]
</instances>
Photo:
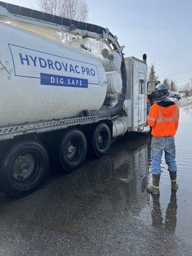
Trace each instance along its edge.
<instances>
[{"instance_id":1,"label":"orange high-visibility jacket with reflective stripe worn by the worker","mask_svg":"<svg viewBox=\"0 0 192 256\"><path fill-rule=\"evenodd\" d=\"M164 108L154 103L150 107L147 123L152 127L152 136L175 136L179 124L179 106L175 103Z\"/></svg>"}]
</instances>

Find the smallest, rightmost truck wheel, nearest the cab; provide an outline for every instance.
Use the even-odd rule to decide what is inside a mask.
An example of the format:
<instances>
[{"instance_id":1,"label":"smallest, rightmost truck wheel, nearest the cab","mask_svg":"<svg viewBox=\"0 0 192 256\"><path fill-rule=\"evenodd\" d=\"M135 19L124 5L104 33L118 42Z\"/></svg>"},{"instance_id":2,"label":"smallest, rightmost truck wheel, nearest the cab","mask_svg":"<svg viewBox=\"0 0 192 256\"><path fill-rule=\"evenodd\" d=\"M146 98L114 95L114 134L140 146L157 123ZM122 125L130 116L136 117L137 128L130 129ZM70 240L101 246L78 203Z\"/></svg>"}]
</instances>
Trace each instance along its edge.
<instances>
[{"instance_id":1,"label":"smallest, rightmost truck wheel, nearest the cab","mask_svg":"<svg viewBox=\"0 0 192 256\"><path fill-rule=\"evenodd\" d=\"M111 133L108 125L101 123L93 132L92 152L97 157L102 157L109 152L111 145Z\"/></svg>"}]
</instances>

